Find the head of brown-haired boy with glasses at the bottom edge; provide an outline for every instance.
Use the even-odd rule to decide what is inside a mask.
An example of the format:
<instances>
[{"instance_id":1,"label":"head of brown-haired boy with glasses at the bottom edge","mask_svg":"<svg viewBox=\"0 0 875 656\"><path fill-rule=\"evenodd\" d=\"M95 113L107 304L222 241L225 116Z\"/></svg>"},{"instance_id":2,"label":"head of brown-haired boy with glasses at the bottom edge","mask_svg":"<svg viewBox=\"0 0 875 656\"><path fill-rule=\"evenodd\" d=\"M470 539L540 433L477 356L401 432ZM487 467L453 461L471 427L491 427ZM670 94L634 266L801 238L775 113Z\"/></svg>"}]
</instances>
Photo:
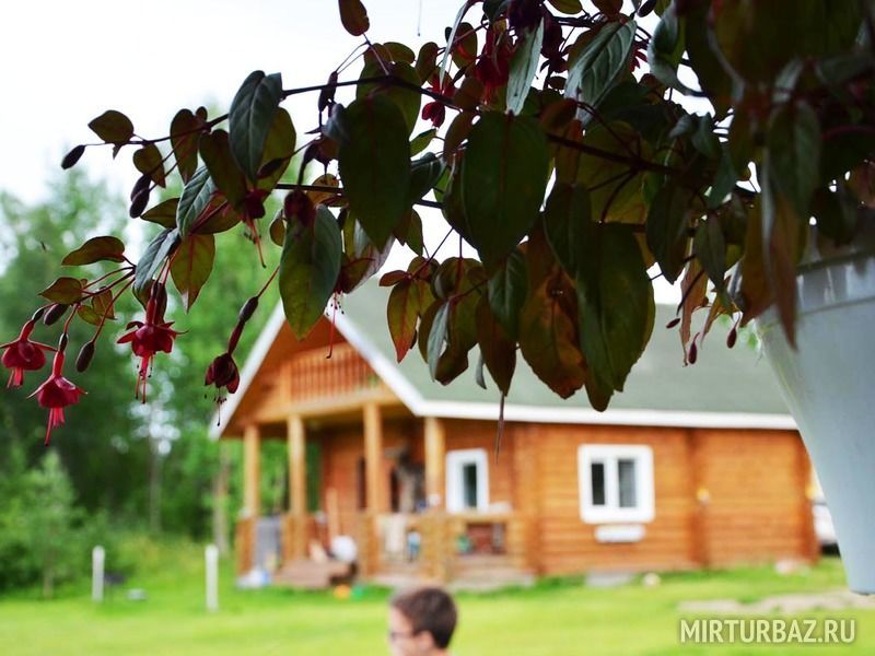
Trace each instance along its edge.
<instances>
[{"instance_id":1,"label":"head of brown-haired boy with glasses at the bottom edge","mask_svg":"<svg viewBox=\"0 0 875 656\"><path fill-rule=\"evenodd\" d=\"M443 654L456 628L456 605L436 587L395 595L389 601L389 649L393 656Z\"/></svg>"}]
</instances>

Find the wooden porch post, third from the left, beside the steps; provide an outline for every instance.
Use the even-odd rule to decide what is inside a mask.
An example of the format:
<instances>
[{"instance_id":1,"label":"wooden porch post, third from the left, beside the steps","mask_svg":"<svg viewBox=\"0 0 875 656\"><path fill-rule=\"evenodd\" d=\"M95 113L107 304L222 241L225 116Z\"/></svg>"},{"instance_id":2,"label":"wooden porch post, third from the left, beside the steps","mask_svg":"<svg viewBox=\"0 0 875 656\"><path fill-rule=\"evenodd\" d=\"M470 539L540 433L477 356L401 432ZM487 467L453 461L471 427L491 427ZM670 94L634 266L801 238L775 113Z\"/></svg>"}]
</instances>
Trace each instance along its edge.
<instances>
[{"instance_id":1,"label":"wooden porch post, third from the left, beside the steps","mask_svg":"<svg viewBox=\"0 0 875 656\"><path fill-rule=\"evenodd\" d=\"M360 546L362 573L380 569L380 535L377 517L386 512L386 481L383 476L383 421L376 403L365 403L364 427L364 531Z\"/></svg>"}]
</instances>

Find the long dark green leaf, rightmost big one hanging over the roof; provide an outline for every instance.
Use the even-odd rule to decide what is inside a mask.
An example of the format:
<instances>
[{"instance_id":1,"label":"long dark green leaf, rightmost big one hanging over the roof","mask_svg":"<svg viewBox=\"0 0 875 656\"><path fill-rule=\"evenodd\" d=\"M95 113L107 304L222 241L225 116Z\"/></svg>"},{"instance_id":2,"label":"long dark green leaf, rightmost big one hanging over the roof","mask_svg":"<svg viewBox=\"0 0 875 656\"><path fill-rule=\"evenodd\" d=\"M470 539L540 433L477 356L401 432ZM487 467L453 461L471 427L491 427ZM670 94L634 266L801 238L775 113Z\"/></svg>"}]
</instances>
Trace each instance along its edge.
<instances>
[{"instance_id":1,"label":"long dark green leaf, rightmost big one hanging over the roof","mask_svg":"<svg viewBox=\"0 0 875 656\"><path fill-rule=\"evenodd\" d=\"M626 225L596 225L578 273L581 348L598 387L622 391L653 329L653 288Z\"/></svg>"}]
</instances>

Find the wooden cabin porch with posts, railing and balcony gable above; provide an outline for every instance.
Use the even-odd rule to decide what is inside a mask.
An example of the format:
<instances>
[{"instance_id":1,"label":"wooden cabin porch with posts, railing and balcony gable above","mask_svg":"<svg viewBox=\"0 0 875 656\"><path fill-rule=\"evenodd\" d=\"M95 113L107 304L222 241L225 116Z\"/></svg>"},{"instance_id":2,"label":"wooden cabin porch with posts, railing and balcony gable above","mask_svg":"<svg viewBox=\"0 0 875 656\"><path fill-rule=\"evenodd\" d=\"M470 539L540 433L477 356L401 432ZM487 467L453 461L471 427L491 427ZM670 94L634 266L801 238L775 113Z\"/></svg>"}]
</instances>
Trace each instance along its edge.
<instances>
[{"instance_id":1,"label":"wooden cabin porch with posts, railing and balcony gable above","mask_svg":"<svg viewBox=\"0 0 875 656\"><path fill-rule=\"evenodd\" d=\"M509 503L482 503L488 483L476 465L447 456L444 422L410 414L350 344L336 344L329 362L325 353L288 359L244 424L238 574L257 567L301 587L353 576L527 581L534 522ZM287 507L272 517L260 507L266 440L284 440L288 454ZM350 544L354 553L340 553Z\"/></svg>"}]
</instances>

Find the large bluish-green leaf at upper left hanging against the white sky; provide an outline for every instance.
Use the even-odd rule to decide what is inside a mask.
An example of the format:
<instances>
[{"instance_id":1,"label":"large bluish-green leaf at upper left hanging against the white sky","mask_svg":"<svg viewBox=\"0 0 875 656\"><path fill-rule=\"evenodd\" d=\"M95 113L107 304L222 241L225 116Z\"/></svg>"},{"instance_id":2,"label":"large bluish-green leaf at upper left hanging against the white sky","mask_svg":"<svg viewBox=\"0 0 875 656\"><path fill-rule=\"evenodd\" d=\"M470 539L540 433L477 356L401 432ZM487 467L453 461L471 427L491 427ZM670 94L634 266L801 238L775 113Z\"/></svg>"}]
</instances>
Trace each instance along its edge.
<instances>
[{"instance_id":1,"label":"large bluish-green leaf at upper left hanging against the white sky","mask_svg":"<svg viewBox=\"0 0 875 656\"><path fill-rule=\"evenodd\" d=\"M258 178L270 126L282 99L282 77L254 71L243 82L228 115L231 152L250 180Z\"/></svg>"}]
</instances>

